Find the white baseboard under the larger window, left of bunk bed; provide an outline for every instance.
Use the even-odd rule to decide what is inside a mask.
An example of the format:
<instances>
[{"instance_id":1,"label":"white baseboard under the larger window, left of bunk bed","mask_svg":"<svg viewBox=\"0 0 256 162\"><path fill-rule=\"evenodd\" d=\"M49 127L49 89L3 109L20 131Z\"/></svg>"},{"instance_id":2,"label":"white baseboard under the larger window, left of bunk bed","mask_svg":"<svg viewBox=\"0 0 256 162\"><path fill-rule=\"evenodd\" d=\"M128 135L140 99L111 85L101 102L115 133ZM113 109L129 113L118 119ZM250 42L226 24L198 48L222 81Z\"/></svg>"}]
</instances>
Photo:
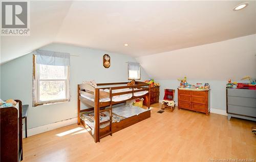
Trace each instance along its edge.
<instances>
[{"instance_id":1,"label":"white baseboard under the larger window, left of bunk bed","mask_svg":"<svg viewBox=\"0 0 256 162\"><path fill-rule=\"evenodd\" d=\"M63 121L35 127L35 128L30 128L28 129L28 136L39 134L39 133L46 132L53 129L57 129L60 127L65 127L67 125L71 125L76 122L77 122L77 118L71 118L71 119L67 119L67 120L63 120ZM25 130L23 130L23 137L25 137Z\"/></svg>"}]
</instances>

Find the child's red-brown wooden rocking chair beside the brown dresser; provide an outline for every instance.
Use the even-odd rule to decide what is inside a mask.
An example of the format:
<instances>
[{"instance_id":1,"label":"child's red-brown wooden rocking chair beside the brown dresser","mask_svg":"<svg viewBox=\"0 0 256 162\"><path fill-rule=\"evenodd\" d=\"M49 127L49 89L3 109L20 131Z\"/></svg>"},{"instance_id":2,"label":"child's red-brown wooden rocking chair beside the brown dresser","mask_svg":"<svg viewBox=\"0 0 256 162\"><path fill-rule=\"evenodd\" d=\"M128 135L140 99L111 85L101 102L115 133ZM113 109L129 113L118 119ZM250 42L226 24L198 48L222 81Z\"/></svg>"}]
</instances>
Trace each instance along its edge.
<instances>
[{"instance_id":1,"label":"child's red-brown wooden rocking chair beside the brown dresser","mask_svg":"<svg viewBox=\"0 0 256 162\"><path fill-rule=\"evenodd\" d=\"M175 94L174 89L164 89L162 109L170 108L171 111L175 109L174 94Z\"/></svg>"}]
</instances>

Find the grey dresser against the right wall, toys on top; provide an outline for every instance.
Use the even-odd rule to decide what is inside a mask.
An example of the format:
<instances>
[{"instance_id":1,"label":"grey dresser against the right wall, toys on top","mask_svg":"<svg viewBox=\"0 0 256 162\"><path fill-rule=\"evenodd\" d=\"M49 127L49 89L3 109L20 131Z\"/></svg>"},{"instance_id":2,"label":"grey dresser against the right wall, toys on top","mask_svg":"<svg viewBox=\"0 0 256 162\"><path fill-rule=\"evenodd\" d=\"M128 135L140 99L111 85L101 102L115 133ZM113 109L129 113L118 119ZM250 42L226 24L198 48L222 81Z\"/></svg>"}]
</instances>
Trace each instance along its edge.
<instances>
[{"instance_id":1,"label":"grey dresser against the right wall, toys on top","mask_svg":"<svg viewBox=\"0 0 256 162\"><path fill-rule=\"evenodd\" d=\"M256 121L256 90L226 89L228 120L231 117Z\"/></svg>"}]
</instances>

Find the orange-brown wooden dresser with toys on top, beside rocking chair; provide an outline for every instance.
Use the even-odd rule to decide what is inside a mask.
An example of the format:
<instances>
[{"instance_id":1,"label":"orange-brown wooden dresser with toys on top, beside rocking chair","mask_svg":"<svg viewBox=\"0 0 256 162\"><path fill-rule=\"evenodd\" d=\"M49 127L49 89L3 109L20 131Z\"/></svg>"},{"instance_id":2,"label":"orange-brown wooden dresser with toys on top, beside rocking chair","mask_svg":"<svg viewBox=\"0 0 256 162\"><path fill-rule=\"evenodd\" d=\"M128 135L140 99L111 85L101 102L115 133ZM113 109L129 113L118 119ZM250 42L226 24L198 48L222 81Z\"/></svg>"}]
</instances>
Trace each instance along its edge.
<instances>
[{"instance_id":1,"label":"orange-brown wooden dresser with toys on top, beside rocking chair","mask_svg":"<svg viewBox=\"0 0 256 162\"><path fill-rule=\"evenodd\" d=\"M178 88L178 109L184 108L209 114L209 90L187 90Z\"/></svg>"}]
</instances>

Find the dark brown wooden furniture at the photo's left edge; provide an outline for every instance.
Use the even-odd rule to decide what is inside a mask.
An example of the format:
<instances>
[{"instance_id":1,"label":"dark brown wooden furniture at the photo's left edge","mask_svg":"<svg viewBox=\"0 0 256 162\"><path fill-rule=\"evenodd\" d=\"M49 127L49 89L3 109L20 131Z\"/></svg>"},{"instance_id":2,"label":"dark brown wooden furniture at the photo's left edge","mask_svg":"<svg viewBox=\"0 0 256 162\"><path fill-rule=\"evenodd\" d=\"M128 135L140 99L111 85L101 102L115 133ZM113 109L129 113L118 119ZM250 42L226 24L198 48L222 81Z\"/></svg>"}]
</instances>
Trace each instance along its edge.
<instances>
[{"instance_id":1,"label":"dark brown wooden furniture at the photo's left edge","mask_svg":"<svg viewBox=\"0 0 256 162\"><path fill-rule=\"evenodd\" d=\"M16 107L0 108L1 160L17 162L23 160L22 102Z\"/></svg>"}]
</instances>

